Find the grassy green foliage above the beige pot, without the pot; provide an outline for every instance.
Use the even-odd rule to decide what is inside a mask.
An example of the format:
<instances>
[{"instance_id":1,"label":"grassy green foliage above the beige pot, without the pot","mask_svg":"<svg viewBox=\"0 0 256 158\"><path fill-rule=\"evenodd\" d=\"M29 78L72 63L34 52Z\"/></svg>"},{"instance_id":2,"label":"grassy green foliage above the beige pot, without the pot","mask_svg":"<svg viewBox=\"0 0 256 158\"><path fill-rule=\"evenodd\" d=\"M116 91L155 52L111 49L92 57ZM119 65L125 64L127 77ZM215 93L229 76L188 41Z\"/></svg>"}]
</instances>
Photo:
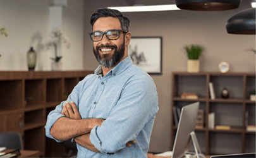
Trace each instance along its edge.
<instances>
[{"instance_id":1,"label":"grassy green foliage above the beige pot, without the pot","mask_svg":"<svg viewBox=\"0 0 256 158\"><path fill-rule=\"evenodd\" d=\"M190 47L185 46L184 48L186 50L186 56L188 56L188 59L190 60L198 60L205 50L204 47L193 44Z\"/></svg>"}]
</instances>

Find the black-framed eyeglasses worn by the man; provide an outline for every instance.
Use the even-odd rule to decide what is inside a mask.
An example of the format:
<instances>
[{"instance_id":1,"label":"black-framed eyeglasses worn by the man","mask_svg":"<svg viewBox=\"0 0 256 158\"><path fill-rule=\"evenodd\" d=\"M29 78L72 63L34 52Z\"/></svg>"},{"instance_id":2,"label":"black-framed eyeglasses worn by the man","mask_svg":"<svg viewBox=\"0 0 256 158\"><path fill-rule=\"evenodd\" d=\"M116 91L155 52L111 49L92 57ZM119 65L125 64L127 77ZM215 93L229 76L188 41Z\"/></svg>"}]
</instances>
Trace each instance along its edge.
<instances>
[{"instance_id":1,"label":"black-framed eyeglasses worn by the man","mask_svg":"<svg viewBox=\"0 0 256 158\"><path fill-rule=\"evenodd\" d=\"M126 31L126 30L108 30L106 32L97 31L97 32L90 32L89 35L90 35L90 39L92 39L92 41L97 42L97 41L102 40L104 34L106 35L107 39L109 39L109 40L119 39L120 32L126 33L128 31Z\"/></svg>"}]
</instances>

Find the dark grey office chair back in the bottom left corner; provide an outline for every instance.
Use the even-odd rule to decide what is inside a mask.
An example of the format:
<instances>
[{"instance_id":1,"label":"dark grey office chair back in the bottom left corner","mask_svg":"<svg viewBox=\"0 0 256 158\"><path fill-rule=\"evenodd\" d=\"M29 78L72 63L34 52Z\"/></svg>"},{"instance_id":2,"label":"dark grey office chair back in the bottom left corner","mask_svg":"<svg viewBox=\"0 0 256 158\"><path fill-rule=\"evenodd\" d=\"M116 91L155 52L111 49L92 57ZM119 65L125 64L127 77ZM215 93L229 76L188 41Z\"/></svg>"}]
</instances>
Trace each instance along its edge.
<instances>
[{"instance_id":1,"label":"dark grey office chair back in the bottom left corner","mask_svg":"<svg viewBox=\"0 0 256 158\"><path fill-rule=\"evenodd\" d=\"M6 131L0 133L0 147L23 150L21 134L17 131Z\"/></svg>"}]
</instances>

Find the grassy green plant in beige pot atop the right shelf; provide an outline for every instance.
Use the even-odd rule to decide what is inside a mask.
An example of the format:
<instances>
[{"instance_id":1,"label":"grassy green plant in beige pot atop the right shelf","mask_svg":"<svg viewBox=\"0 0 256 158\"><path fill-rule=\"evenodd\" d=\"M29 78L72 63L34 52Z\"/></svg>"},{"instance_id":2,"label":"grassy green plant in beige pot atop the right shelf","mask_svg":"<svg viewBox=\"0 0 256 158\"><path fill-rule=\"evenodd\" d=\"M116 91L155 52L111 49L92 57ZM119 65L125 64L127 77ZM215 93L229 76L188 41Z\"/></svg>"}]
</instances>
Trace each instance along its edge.
<instances>
[{"instance_id":1,"label":"grassy green plant in beige pot atop the right shelf","mask_svg":"<svg viewBox=\"0 0 256 158\"><path fill-rule=\"evenodd\" d=\"M197 73L199 71L199 58L204 52L204 47L198 45L191 45L184 47L186 50L186 56L188 56L188 72Z\"/></svg>"}]
</instances>

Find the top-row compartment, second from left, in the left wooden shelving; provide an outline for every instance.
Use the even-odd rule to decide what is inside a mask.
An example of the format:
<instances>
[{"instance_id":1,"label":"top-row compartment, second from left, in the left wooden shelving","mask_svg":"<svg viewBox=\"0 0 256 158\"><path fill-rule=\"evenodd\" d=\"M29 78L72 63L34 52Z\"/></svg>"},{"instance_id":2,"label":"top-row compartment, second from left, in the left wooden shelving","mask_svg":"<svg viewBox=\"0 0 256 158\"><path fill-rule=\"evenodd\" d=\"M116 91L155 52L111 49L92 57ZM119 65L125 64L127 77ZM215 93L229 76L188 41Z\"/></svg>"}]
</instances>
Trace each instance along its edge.
<instances>
[{"instance_id":1,"label":"top-row compartment, second from left, in the left wooden shelving","mask_svg":"<svg viewBox=\"0 0 256 158\"><path fill-rule=\"evenodd\" d=\"M25 80L25 107L44 104L44 80Z\"/></svg>"}]
</instances>

